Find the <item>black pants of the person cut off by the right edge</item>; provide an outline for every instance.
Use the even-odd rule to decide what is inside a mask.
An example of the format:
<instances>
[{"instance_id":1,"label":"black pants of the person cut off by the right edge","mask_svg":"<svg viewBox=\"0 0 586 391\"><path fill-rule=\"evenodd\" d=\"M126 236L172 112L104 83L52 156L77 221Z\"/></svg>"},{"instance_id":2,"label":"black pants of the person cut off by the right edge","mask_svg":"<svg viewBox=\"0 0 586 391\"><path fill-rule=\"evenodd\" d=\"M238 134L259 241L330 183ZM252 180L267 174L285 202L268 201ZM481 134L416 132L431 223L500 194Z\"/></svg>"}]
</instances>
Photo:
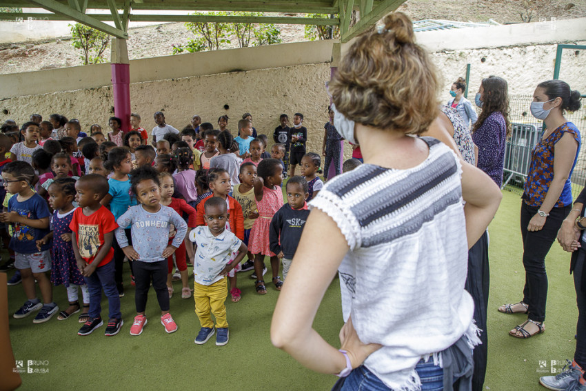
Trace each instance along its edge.
<instances>
[{"instance_id":1,"label":"black pants of the person cut off by the right edge","mask_svg":"<svg viewBox=\"0 0 586 391\"><path fill-rule=\"evenodd\" d=\"M574 361L582 368L586 368L586 291L582 290L582 281L586 262L586 243L578 250L578 260L574 267L574 288L576 288L576 303L578 304L578 325L576 325L576 352ZM583 375L586 379L586 373Z\"/></svg>"}]
</instances>

